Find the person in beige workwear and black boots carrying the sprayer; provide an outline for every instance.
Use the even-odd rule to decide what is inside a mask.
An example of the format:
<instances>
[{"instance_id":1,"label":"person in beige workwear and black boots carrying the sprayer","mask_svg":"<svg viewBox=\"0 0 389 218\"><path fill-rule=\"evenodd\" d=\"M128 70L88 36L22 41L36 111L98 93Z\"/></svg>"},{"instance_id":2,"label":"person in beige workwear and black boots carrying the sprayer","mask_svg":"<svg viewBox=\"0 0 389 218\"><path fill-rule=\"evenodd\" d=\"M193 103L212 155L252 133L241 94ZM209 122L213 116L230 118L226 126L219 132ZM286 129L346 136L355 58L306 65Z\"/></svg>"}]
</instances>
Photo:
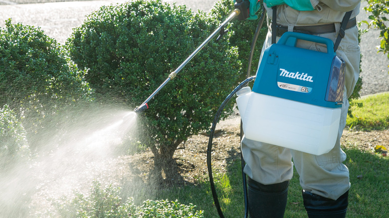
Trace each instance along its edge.
<instances>
[{"instance_id":1,"label":"person in beige workwear and black boots carrying the sprayer","mask_svg":"<svg viewBox=\"0 0 389 218\"><path fill-rule=\"evenodd\" d=\"M340 138L346 125L348 98L353 93L360 72L356 26L360 0L264 0L263 5L270 22L261 57L265 48L277 42L286 32L324 37L335 44L336 55L344 61L345 80L342 87L343 104L339 106L339 128L330 151L315 155L243 136L241 150L246 163L244 173L248 176L249 215L251 218L284 216L288 185L295 166L300 176L303 203L308 217L344 218L350 178L348 168L342 163L346 160L346 153L341 149ZM247 19L257 19L255 13L260 8L260 2L249 0L248 8ZM327 49L321 43L305 40L298 40L296 46L322 52ZM284 69L284 77L287 75L286 71ZM297 79L303 80L301 75L300 73ZM307 78L308 76L305 79Z\"/></svg>"}]
</instances>

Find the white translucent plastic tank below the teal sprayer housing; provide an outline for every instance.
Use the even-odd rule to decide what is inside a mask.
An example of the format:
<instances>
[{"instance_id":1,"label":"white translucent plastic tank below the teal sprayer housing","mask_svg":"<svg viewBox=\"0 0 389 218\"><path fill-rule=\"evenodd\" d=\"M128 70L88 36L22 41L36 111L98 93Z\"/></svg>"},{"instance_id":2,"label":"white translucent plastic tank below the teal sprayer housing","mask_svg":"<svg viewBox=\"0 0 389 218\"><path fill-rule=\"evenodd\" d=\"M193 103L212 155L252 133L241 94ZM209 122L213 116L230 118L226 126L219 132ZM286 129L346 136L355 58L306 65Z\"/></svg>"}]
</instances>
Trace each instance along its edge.
<instances>
[{"instance_id":1,"label":"white translucent plastic tank below the teal sprayer housing","mask_svg":"<svg viewBox=\"0 0 389 218\"><path fill-rule=\"evenodd\" d=\"M246 138L310 154L335 145L341 109L330 109L251 92L245 87L236 103Z\"/></svg>"}]
</instances>

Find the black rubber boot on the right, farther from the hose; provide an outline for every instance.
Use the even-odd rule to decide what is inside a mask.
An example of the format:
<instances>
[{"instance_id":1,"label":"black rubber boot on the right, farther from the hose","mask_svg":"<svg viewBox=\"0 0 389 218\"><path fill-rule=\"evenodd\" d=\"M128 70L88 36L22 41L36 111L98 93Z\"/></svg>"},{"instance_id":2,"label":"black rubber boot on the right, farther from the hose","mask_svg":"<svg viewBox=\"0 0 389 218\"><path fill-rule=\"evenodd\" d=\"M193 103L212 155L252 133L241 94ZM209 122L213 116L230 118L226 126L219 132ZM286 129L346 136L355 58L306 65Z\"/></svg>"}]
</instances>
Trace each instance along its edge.
<instances>
[{"instance_id":1,"label":"black rubber boot on the right, farther from the hose","mask_svg":"<svg viewBox=\"0 0 389 218\"><path fill-rule=\"evenodd\" d=\"M303 190L304 207L309 218L345 218L349 191L336 201Z\"/></svg>"}]
</instances>

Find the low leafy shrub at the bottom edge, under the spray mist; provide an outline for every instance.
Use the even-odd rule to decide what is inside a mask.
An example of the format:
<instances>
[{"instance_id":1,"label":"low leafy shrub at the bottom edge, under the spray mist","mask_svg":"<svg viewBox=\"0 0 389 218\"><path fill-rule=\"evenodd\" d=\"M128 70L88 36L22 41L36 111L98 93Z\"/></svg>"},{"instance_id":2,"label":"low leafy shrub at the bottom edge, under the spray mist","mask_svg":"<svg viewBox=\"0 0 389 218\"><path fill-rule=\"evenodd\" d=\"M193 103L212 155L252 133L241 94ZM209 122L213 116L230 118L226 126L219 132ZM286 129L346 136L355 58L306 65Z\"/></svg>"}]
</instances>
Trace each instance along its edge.
<instances>
[{"instance_id":1,"label":"low leafy shrub at the bottom edge, under the spray mist","mask_svg":"<svg viewBox=\"0 0 389 218\"><path fill-rule=\"evenodd\" d=\"M202 211L195 211L196 206L186 206L178 200L147 200L137 207L132 198L122 200L120 188L112 185L102 188L98 182L89 196L78 193L70 201L63 200L57 205L62 218L203 218Z\"/></svg>"}]
</instances>

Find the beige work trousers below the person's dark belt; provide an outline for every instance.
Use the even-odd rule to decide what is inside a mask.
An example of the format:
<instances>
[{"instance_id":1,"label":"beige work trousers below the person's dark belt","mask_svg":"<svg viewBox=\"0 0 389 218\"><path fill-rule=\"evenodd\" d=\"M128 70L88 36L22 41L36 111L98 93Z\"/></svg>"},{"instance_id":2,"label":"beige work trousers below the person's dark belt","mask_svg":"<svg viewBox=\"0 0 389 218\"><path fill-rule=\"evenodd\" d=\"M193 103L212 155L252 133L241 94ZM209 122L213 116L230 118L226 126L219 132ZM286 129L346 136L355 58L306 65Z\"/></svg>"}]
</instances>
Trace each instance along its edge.
<instances>
[{"instance_id":1,"label":"beige work trousers below the person's dark belt","mask_svg":"<svg viewBox=\"0 0 389 218\"><path fill-rule=\"evenodd\" d=\"M330 38L335 43L337 33L319 36ZM270 44L271 32L269 31L263 48ZM299 42L297 47L327 51L325 46L307 41ZM326 154L313 155L253 141L243 136L241 149L246 162L244 173L251 179L264 185L281 183L292 178L294 165L300 176L300 185L305 191L336 200L350 189L349 170L342 163L346 160L346 153L341 149L340 138L346 125L349 108L347 99L352 94L359 77L360 47L357 27L346 30L346 36L340 43L337 55L346 62L346 85L338 138L334 148Z\"/></svg>"}]
</instances>

